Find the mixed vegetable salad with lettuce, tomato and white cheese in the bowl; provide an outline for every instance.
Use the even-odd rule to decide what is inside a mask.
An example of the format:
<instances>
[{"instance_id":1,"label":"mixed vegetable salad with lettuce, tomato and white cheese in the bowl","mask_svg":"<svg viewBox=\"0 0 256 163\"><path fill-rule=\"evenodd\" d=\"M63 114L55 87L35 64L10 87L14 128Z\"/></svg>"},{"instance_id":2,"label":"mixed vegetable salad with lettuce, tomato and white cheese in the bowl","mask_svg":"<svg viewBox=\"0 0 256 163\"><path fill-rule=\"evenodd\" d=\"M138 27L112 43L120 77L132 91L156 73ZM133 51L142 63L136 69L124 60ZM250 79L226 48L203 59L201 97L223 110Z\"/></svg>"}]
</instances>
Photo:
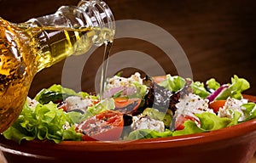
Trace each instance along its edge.
<instances>
[{"instance_id":1,"label":"mixed vegetable salad with lettuce, tomato and white cheese in the bowl","mask_svg":"<svg viewBox=\"0 0 256 163\"><path fill-rule=\"evenodd\" d=\"M250 87L234 76L195 82L181 76L108 78L103 98L67 87L44 88L26 104L3 136L21 140L133 140L211 132L256 117L254 103L243 98Z\"/></svg>"}]
</instances>

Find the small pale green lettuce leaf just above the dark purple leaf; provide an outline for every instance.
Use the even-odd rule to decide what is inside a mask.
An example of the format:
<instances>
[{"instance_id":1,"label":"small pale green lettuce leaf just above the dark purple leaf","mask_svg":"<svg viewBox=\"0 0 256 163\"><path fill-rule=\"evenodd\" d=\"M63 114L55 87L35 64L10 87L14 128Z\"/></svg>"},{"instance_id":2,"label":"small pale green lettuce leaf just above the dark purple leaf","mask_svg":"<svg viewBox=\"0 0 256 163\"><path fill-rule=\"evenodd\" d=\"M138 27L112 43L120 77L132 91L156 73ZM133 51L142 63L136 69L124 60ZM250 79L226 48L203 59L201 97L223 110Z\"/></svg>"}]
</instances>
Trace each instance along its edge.
<instances>
[{"instance_id":1,"label":"small pale green lettuce leaf just above the dark purple leaf","mask_svg":"<svg viewBox=\"0 0 256 163\"><path fill-rule=\"evenodd\" d=\"M181 76L166 75L166 79L159 83L160 86L169 89L172 92L177 92L185 86L186 82Z\"/></svg>"}]
</instances>

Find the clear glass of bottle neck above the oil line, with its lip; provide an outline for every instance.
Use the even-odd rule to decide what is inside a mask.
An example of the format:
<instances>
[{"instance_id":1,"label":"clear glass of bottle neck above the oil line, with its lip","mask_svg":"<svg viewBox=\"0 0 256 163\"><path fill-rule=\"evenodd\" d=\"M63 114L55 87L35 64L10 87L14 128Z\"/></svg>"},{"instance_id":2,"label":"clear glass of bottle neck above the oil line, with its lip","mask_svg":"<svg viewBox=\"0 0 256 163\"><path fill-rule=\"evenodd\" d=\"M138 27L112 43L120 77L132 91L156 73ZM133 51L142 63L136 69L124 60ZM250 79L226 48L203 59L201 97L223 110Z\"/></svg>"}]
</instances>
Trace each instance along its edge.
<instances>
[{"instance_id":1,"label":"clear glass of bottle neck above the oil line, with its lip","mask_svg":"<svg viewBox=\"0 0 256 163\"><path fill-rule=\"evenodd\" d=\"M113 14L107 3L101 0L81 0L78 6L61 6L55 14L28 20L26 23L40 27L96 29L92 42L98 47L104 42L113 42L115 33Z\"/></svg>"}]
</instances>

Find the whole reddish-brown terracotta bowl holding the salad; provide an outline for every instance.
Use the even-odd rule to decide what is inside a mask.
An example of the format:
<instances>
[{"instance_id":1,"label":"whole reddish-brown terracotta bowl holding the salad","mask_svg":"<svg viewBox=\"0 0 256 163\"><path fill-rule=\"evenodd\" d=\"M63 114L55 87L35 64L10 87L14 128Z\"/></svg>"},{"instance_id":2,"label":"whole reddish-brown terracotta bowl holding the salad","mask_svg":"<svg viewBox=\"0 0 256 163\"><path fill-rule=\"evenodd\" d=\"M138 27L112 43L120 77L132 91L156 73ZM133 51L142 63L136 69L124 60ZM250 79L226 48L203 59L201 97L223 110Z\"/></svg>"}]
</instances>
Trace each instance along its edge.
<instances>
[{"instance_id":1,"label":"whole reddish-brown terracotta bowl holding the salad","mask_svg":"<svg viewBox=\"0 0 256 163\"><path fill-rule=\"evenodd\" d=\"M256 97L245 97L256 101ZM17 144L1 136L0 145L9 163L247 163L256 150L256 120L213 132L131 142L24 141Z\"/></svg>"}]
</instances>

